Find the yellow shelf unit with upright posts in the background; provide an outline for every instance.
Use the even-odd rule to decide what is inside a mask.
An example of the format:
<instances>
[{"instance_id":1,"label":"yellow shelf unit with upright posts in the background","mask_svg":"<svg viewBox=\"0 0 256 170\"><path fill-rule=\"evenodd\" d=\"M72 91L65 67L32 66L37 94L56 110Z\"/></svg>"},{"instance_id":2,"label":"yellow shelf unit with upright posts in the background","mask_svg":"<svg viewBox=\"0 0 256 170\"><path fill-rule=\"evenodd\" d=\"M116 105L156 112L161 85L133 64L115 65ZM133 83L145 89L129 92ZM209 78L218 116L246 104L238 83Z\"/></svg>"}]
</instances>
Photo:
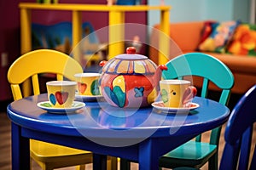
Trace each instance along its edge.
<instances>
[{"instance_id":1,"label":"yellow shelf unit with upright posts in the background","mask_svg":"<svg viewBox=\"0 0 256 170\"><path fill-rule=\"evenodd\" d=\"M25 54L32 50L32 9L44 10L66 10L72 12L72 25L73 25L73 47L79 43L82 37L82 12L108 12L108 56L109 59L118 54L122 54L124 50L124 28L120 26L125 24L125 12L139 12L148 10L160 10L160 31L169 35L169 15L171 6L148 6L148 5L103 5L103 4L73 4L73 3L19 3L20 8L20 52ZM165 38L168 36L160 37L160 54L159 64L167 62L166 56L169 56L168 43ZM79 58L76 58L79 61ZM26 92L25 92L26 93ZM27 96L28 94L24 94Z\"/></svg>"}]
</instances>

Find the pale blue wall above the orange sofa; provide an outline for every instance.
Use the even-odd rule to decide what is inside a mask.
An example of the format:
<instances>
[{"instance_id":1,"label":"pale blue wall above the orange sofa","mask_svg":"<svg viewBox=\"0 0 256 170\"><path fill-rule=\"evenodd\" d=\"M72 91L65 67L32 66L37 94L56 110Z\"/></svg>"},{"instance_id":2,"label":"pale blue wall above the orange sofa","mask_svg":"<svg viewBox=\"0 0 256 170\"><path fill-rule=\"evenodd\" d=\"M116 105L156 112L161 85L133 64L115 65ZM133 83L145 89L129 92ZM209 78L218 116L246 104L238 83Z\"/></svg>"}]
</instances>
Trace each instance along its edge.
<instances>
[{"instance_id":1,"label":"pale blue wall above the orange sofa","mask_svg":"<svg viewBox=\"0 0 256 170\"><path fill-rule=\"evenodd\" d=\"M160 4L160 0L148 0L150 5ZM170 22L195 20L241 20L249 22L250 0L165 0L171 5ZM157 12L148 14L148 25L159 23Z\"/></svg>"}]
</instances>

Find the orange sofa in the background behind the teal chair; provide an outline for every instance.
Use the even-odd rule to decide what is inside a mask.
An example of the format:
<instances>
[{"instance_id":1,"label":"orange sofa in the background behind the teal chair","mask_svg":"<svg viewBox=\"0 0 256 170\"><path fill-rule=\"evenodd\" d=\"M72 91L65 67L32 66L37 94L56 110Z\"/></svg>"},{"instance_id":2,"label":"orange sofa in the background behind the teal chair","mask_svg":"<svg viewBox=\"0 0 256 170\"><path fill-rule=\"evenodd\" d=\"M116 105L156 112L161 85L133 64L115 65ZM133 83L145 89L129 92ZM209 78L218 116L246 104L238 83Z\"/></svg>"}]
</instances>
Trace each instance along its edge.
<instances>
[{"instance_id":1,"label":"orange sofa in the background behind the teal chair","mask_svg":"<svg viewBox=\"0 0 256 170\"><path fill-rule=\"evenodd\" d=\"M179 54L189 52L198 52L198 45L201 42L202 30L205 26L205 21L193 21L183 23L170 24L170 35L172 42L170 43L169 59L176 57ZM150 33L149 58L158 64L158 40L160 25L155 25ZM256 84L256 56L248 56L244 54L227 54L216 52L202 52L211 54L213 57L221 60L230 68L234 74L235 85L232 88L232 93L244 94L249 88ZM202 65L203 66L203 65ZM196 87L201 88L201 79L193 78L193 83ZM218 90L214 84L209 86L212 90Z\"/></svg>"}]
</instances>

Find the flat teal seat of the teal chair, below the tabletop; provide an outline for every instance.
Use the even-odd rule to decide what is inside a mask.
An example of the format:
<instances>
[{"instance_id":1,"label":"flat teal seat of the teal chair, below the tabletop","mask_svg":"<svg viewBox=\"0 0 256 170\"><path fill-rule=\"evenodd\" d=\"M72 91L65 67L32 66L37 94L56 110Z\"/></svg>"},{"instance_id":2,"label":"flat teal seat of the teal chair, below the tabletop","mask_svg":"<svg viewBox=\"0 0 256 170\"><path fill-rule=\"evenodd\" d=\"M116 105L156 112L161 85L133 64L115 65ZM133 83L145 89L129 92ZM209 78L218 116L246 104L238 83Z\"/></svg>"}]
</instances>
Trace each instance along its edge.
<instances>
[{"instance_id":1,"label":"flat teal seat of the teal chair, below the tabletop","mask_svg":"<svg viewBox=\"0 0 256 170\"><path fill-rule=\"evenodd\" d=\"M160 158L160 167L201 167L217 151L217 145L193 140ZM172 167L170 167L172 165Z\"/></svg>"}]
</instances>

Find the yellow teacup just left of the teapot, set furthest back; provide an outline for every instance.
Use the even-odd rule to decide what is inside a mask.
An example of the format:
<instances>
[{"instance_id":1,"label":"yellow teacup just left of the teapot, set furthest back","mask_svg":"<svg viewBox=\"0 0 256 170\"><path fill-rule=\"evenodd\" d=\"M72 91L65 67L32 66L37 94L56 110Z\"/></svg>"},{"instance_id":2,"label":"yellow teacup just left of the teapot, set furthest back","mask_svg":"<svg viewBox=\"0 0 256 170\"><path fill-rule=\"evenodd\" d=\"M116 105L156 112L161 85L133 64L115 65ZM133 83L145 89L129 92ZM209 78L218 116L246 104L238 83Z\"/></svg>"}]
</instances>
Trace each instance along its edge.
<instances>
[{"instance_id":1,"label":"yellow teacup just left of the teapot, set furthest back","mask_svg":"<svg viewBox=\"0 0 256 170\"><path fill-rule=\"evenodd\" d=\"M99 78L101 74L96 72L75 74L76 82L78 82L79 95L100 95Z\"/></svg>"}]
</instances>

